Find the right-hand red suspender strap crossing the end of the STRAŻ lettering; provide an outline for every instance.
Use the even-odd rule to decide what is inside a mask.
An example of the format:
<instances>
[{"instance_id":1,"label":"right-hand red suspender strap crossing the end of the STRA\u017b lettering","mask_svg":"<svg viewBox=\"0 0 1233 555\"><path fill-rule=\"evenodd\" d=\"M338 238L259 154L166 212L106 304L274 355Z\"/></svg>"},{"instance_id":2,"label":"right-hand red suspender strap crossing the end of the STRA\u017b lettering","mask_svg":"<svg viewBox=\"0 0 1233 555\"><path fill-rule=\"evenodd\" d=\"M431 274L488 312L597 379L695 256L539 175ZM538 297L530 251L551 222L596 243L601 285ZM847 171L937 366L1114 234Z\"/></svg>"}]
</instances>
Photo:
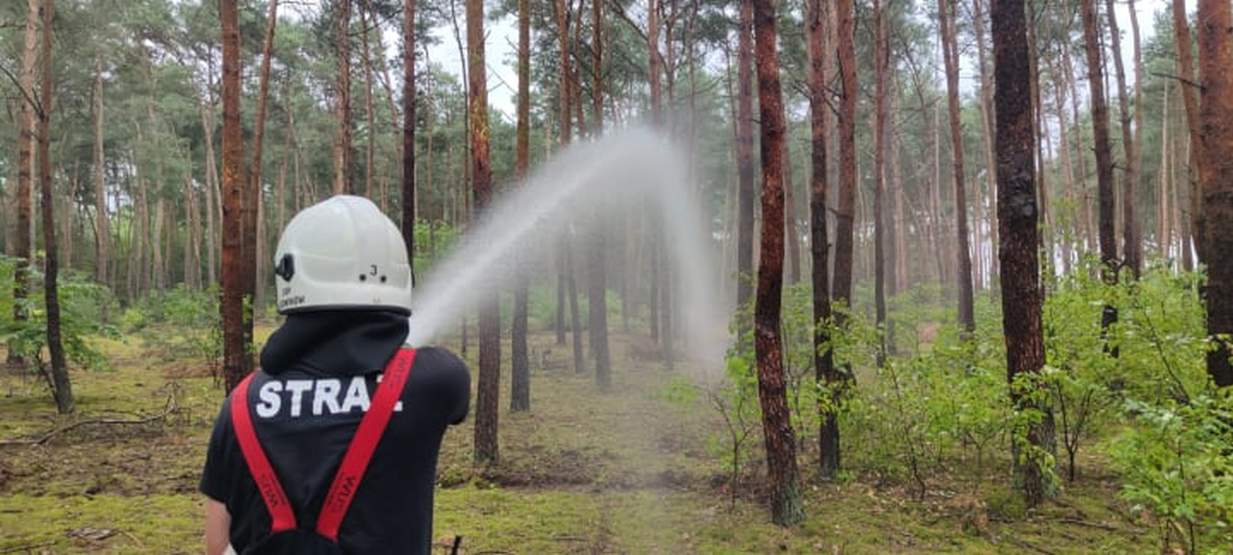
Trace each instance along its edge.
<instances>
[{"instance_id":1,"label":"right-hand red suspender strap crossing the end of the STRA\u017b lettering","mask_svg":"<svg viewBox=\"0 0 1233 555\"><path fill-rule=\"evenodd\" d=\"M338 541L338 528L343 524L343 517L355 498L355 492L364 479L364 471L369 467L372 451L376 450L381 435L385 434L393 407L402 397L407 376L411 375L411 365L416 361L416 349L399 349L393 355L393 360L386 365L385 377L377 386L377 392L372 397L372 406L360 421L351 444L343 455L343 464L334 475L334 482L329 486L326 503L321 508L321 517L317 518L317 533Z\"/></svg>"}]
</instances>

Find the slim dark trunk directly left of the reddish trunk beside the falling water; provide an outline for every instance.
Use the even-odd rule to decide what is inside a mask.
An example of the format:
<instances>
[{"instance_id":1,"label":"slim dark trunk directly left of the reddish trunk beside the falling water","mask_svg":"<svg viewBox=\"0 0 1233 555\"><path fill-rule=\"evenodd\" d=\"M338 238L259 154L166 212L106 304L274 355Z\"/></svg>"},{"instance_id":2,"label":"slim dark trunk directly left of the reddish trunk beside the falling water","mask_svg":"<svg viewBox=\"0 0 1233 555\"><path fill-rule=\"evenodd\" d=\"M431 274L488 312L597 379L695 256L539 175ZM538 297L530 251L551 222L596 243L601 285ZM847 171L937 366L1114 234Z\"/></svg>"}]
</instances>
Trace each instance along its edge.
<instances>
[{"instance_id":1,"label":"slim dark trunk directly left of the reddish trunk beside the falling water","mask_svg":"<svg viewBox=\"0 0 1233 555\"><path fill-rule=\"evenodd\" d=\"M653 2L653 0L652 0ZM741 2L736 42L736 305L753 291L753 6ZM653 58L653 56L652 56Z\"/></svg>"}]
</instances>

